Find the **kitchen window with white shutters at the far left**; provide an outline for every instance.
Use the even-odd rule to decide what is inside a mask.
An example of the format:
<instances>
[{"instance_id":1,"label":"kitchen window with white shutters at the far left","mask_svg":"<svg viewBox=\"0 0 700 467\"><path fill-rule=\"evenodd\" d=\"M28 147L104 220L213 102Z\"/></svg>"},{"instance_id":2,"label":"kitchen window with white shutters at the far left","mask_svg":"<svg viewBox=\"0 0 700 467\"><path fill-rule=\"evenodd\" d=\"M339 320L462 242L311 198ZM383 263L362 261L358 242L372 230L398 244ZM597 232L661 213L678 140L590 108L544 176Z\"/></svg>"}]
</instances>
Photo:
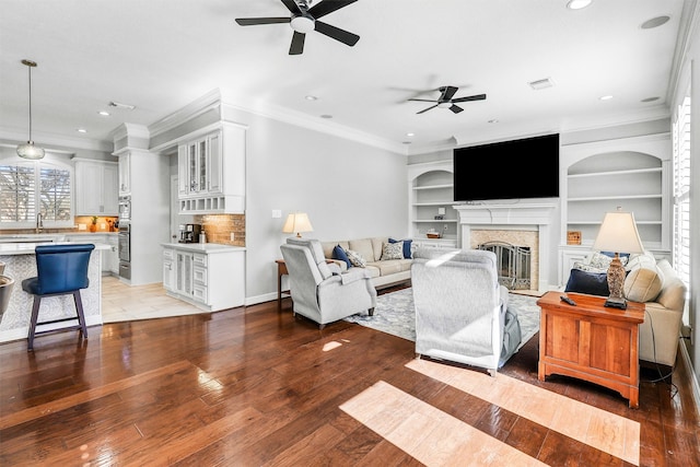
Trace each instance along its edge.
<instances>
[{"instance_id":1,"label":"kitchen window with white shutters at the far left","mask_svg":"<svg viewBox=\"0 0 700 467\"><path fill-rule=\"evenodd\" d=\"M0 165L0 227L33 226L36 214L72 224L71 171L47 163Z\"/></svg>"}]
</instances>

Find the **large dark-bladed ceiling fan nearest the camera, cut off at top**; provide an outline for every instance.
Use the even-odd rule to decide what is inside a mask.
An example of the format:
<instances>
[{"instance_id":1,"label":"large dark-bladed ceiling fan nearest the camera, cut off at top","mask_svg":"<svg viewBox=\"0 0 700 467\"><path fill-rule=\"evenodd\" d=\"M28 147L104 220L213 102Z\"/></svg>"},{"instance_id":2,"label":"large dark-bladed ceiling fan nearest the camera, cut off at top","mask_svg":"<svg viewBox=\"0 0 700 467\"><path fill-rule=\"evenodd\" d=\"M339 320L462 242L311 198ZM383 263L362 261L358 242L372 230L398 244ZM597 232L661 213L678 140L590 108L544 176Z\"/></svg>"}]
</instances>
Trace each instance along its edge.
<instances>
[{"instance_id":1,"label":"large dark-bladed ceiling fan nearest the camera, cut off at top","mask_svg":"<svg viewBox=\"0 0 700 467\"><path fill-rule=\"evenodd\" d=\"M319 3L311 7L312 0L281 0L284 7L292 13L291 17L237 17L236 23L241 26L291 23L294 35L292 36L292 44L289 47L289 55L300 55L304 51L306 33L311 33L312 31L317 31L320 34L352 47L360 40L360 36L318 21L318 19L355 1L358 0L322 0Z\"/></svg>"}]
</instances>

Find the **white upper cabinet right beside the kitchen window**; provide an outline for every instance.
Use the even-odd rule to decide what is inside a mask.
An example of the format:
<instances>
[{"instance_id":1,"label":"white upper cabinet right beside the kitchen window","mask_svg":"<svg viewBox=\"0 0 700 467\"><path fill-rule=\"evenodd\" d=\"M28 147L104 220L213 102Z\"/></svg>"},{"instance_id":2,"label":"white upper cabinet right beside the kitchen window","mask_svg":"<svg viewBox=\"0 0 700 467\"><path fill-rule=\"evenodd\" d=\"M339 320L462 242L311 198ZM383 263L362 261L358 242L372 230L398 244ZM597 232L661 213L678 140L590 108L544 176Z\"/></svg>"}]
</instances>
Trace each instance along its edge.
<instances>
[{"instance_id":1,"label":"white upper cabinet right beside the kitchen window","mask_svg":"<svg viewBox=\"0 0 700 467\"><path fill-rule=\"evenodd\" d=\"M73 159L75 162L75 215L118 215L116 162Z\"/></svg>"}]
</instances>

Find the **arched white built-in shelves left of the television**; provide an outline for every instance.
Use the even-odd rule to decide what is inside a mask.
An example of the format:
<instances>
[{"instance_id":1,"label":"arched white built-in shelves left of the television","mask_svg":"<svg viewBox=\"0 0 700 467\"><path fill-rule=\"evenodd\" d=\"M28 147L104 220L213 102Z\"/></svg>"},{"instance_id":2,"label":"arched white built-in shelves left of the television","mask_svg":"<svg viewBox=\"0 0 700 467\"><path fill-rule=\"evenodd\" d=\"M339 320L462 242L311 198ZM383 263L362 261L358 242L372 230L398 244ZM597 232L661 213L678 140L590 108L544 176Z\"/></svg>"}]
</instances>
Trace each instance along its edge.
<instances>
[{"instance_id":1,"label":"arched white built-in shelves left of the television","mask_svg":"<svg viewBox=\"0 0 700 467\"><path fill-rule=\"evenodd\" d=\"M408 189L409 232L417 246L456 247L459 217L454 209L452 160L409 165ZM441 238L428 238L429 232Z\"/></svg>"}]
</instances>

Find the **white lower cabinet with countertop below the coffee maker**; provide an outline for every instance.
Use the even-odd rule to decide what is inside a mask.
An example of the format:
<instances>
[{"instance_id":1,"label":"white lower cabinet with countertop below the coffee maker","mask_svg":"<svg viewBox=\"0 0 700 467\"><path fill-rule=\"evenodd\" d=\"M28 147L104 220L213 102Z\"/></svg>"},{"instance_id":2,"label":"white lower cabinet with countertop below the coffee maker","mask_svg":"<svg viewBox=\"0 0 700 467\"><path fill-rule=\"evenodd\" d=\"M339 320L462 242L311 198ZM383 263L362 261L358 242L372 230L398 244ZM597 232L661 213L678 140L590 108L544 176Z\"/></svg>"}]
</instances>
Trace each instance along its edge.
<instances>
[{"instance_id":1,"label":"white lower cabinet with countertop below the coffee maker","mask_svg":"<svg viewBox=\"0 0 700 467\"><path fill-rule=\"evenodd\" d=\"M245 248L218 244L163 244L166 293L217 312L245 304Z\"/></svg>"}]
</instances>

